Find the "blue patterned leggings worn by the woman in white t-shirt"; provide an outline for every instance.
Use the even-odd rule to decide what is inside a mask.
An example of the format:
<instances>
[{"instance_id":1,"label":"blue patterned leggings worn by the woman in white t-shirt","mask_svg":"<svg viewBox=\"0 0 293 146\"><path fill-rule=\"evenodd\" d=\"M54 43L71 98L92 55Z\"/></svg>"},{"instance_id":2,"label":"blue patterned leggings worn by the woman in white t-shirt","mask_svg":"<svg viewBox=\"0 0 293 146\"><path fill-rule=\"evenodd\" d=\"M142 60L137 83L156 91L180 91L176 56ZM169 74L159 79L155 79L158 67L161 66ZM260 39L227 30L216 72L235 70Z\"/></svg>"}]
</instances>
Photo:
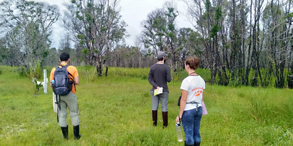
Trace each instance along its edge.
<instances>
[{"instance_id":1,"label":"blue patterned leggings worn by the woman in white t-shirt","mask_svg":"<svg viewBox=\"0 0 293 146\"><path fill-rule=\"evenodd\" d=\"M190 109L183 112L181 122L188 145L200 142L201 117L202 107L197 107L197 111L196 109Z\"/></svg>"}]
</instances>

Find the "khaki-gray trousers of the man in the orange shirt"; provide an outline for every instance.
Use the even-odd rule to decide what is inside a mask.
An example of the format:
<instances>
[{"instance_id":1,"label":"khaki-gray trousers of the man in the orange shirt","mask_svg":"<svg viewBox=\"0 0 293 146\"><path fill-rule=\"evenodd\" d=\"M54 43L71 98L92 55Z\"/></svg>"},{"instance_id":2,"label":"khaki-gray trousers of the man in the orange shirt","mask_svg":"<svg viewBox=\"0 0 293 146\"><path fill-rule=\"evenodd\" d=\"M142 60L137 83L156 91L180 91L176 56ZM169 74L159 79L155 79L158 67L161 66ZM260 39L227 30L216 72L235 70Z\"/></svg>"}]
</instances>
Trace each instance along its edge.
<instances>
[{"instance_id":1,"label":"khaki-gray trousers of the man in the orange shirt","mask_svg":"<svg viewBox=\"0 0 293 146\"><path fill-rule=\"evenodd\" d=\"M67 95L63 95L60 97L60 106L61 110L59 110L59 126L67 127L67 107L69 109L69 114L71 118L71 122L73 126L79 125L79 112L77 105L77 98L73 92L68 93ZM59 100L59 95L58 95Z\"/></svg>"}]
</instances>

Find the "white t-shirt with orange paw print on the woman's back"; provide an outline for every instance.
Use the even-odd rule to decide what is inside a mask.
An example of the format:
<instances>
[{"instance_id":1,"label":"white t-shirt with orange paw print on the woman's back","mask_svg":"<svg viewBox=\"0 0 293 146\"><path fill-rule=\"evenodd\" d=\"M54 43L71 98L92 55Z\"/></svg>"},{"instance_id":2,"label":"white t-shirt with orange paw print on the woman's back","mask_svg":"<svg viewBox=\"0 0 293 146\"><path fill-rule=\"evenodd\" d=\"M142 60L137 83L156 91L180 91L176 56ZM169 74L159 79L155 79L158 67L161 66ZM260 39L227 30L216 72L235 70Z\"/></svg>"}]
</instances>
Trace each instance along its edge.
<instances>
[{"instance_id":1,"label":"white t-shirt with orange paw print on the woman's back","mask_svg":"<svg viewBox=\"0 0 293 146\"><path fill-rule=\"evenodd\" d=\"M199 75L186 77L182 81L180 89L188 91L186 102L197 102L197 104L186 104L184 110L195 109L196 105L198 105L198 107L202 106L202 93L205 89L205 81L202 79L202 77Z\"/></svg>"}]
</instances>

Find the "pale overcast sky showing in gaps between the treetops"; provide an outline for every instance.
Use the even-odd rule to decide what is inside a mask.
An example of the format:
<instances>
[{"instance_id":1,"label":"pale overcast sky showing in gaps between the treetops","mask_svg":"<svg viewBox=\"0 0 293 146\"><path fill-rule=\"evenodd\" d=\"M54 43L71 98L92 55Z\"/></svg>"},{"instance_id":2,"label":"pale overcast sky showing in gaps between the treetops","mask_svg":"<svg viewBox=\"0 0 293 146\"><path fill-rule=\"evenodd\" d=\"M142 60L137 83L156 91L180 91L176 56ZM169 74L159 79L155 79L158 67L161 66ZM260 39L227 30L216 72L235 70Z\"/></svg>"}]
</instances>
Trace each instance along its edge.
<instances>
[{"instance_id":1,"label":"pale overcast sky showing in gaps between the treetops","mask_svg":"<svg viewBox=\"0 0 293 146\"><path fill-rule=\"evenodd\" d=\"M46 1L49 4L57 4L60 6L60 10L62 11L62 2L63 0L36 0L36 1ZM65 0L67 1L67 0ZM120 6L122 7L122 19L128 24L127 32L130 34L130 37L126 39L125 43L129 46L134 46L135 36L140 33L140 22L147 18L147 14L154 10L155 8L160 8L165 0L121 0ZM181 13L185 13L184 3L181 1L177 1L178 10ZM193 26L190 22L186 21L186 17L184 15L179 15L178 19L178 27L190 27ZM59 48L59 39L60 32L63 31L62 28L59 27L60 22L57 21L54 24L54 35L52 36L52 46Z\"/></svg>"}]
</instances>

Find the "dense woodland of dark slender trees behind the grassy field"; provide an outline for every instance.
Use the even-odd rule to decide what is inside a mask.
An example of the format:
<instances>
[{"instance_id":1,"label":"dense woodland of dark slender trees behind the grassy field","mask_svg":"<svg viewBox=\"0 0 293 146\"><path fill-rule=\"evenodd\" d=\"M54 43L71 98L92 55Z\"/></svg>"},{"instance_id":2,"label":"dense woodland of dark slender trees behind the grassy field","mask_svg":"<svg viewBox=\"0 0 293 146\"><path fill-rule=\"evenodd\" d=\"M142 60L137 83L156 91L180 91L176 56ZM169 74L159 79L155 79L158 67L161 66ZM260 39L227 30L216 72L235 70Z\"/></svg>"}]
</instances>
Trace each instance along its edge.
<instances>
[{"instance_id":1,"label":"dense woodland of dark slender trees behind the grassy field","mask_svg":"<svg viewBox=\"0 0 293 146\"><path fill-rule=\"evenodd\" d=\"M293 27L291 0L166 1L141 22L135 46L125 44L127 24L120 0L71 0L57 5L26 0L0 4L0 63L20 66L30 76L37 68L58 64L61 52L72 65L150 67L159 51L176 75L188 56L199 57L211 83L293 87ZM193 28L180 28L185 15ZM51 48L53 23L61 22L59 48Z\"/></svg>"}]
</instances>

